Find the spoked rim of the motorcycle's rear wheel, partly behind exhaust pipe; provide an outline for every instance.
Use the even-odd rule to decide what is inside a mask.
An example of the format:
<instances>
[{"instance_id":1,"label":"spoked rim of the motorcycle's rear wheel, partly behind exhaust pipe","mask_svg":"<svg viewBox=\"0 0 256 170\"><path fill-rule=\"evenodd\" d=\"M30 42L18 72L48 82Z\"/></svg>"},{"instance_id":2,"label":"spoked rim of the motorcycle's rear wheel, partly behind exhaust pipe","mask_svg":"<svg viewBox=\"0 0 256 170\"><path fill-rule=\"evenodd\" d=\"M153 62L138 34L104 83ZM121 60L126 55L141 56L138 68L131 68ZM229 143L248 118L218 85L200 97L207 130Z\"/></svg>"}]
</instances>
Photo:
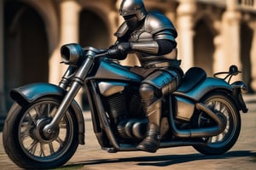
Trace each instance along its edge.
<instances>
[{"instance_id":1,"label":"spoked rim of the motorcycle's rear wheel, partly behind exhaust pipe","mask_svg":"<svg viewBox=\"0 0 256 170\"><path fill-rule=\"evenodd\" d=\"M232 106L224 99L209 99L207 100L206 105L212 111L223 114L227 119L227 125L222 133L203 139L207 141L207 144L211 147L220 147L229 143L230 139L232 139L233 135L236 133L237 125L235 111ZM201 126L202 120L206 121L207 119L208 117L206 117L204 113L201 113L199 125Z\"/></svg>"}]
</instances>

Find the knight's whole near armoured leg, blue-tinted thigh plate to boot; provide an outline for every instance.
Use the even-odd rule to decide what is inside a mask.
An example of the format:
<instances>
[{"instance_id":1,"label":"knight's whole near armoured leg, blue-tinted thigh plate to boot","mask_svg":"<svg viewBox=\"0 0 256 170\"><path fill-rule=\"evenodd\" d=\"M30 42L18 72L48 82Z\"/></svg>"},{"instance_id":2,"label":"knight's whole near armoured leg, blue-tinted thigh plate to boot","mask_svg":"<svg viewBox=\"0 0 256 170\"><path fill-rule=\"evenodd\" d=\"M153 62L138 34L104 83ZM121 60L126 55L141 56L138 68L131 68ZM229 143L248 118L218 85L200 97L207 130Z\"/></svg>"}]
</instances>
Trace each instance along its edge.
<instances>
[{"instance_id":1,"label":"knight's whole near armoured leg, blue-tinted thigh plate to boot","mask_svg":"<svg viewBox=\"0 0 256 170\"><path fill-rule=\"evenodd\" d=\"M177 75L177 74L176 74ZM144 79L140 95L144 111L148 116L148 131L137 149L155 152L160 146L161 97L172 93L177 88L177 77L168 71L154 71Z\"/></svg>"}]
</instances>

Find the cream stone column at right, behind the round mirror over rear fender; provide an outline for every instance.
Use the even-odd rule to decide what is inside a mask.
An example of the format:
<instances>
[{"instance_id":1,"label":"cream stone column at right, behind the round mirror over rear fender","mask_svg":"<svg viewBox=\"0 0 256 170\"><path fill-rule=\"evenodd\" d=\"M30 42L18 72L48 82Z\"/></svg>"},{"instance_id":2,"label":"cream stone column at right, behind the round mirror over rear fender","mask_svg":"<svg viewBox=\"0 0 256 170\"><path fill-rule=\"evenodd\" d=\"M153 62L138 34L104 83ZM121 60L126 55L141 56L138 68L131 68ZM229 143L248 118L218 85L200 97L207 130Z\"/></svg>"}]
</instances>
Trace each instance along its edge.
<instances>
[{"instance_id":1,"label":"cream stone column at right, behind the round mirror over rear fender","mask_svg":"<svg viewBox=\"0 0 256 170\"><path fill-rule=\"evenodd\" d=\"M237 2L227 0L227 10L222 18L222 45L224 57L218 63L218 70L227 71L230 65L237 65L241 70L240 20L241 14L236 9ZM241 74L232 79L241 80Z\"/></svg>"}]
</instances>

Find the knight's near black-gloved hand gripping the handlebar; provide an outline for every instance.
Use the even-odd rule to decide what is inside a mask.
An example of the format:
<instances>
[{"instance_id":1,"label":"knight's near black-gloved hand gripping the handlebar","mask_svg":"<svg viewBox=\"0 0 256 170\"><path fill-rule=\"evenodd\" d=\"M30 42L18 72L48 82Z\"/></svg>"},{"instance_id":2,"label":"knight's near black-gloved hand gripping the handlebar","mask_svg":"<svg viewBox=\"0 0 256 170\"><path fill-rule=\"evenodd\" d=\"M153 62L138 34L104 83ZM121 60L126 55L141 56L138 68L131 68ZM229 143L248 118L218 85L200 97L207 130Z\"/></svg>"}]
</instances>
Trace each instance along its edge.
<instances>
[{"instance_id":1,"label":"knight's near black-gloved hand gripping the handlebar","mask_svg":"<svg viewBox=\"0 0 256 170\"><path fill-rule=\"evenodd\" d=\"M130 42L119 42L109 48L109 59L125 59L131 51Z\"/></svg>"}]
</instances>

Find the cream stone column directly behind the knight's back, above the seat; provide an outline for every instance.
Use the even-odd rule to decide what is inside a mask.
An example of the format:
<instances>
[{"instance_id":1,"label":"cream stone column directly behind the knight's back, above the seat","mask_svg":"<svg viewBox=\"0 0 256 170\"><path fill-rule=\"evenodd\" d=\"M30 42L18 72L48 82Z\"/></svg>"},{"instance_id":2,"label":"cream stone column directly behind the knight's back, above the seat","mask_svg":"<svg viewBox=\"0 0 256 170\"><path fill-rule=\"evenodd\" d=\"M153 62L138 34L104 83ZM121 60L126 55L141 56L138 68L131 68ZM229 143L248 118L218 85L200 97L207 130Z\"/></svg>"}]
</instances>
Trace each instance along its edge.
<instances>
[{"instance_id":1,"label":"cream stone column directly behind the knight's back, above the seat","mask_svg":"<svg viewBox=\"0 0 256 170\"><path fill-rule=\"evenodd\" d=\"M193 31L196 5L194 0L180 0L177 7L177 54L183 71L194 65Z\"/></svg>"}]
</instances>

